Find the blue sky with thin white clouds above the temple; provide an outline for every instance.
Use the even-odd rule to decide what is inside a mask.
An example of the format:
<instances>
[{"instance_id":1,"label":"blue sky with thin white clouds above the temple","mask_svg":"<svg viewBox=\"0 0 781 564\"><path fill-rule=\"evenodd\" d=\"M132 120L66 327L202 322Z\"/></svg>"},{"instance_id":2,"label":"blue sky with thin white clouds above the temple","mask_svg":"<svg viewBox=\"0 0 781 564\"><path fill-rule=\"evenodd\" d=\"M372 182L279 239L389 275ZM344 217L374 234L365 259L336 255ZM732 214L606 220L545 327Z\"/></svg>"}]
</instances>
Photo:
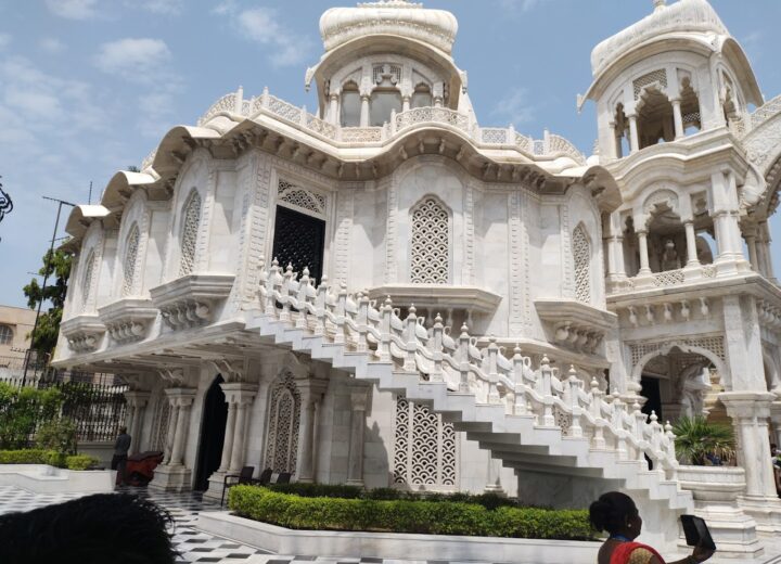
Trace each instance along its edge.
<instances>
[{"instance_id":1,"label":"blue sky with thin white clouds above the temple","mask_svg":"<svg viewBox=\"0 0 781 564\"><path fill-rule=\"evenodd\" d=\"M0 180L14 210L0 222L0 304L24 306L56 204L92 203L175 125L222 94L264 87L296 105L322 54L318 23L357 0L0 0ZM671 0L670 0L671 1ZM591 49L652 11L652 0L424 0L450 10L453 55L469 73L483 126L545 128L590 154ZM766 99L781 93L781 0L712 0L754 66ZM65 214L69 209L65 208ZM66 217L66 215L65 215ZM64 221L62 222L64 223ZM64 236L61 229L57 238ZM781 269L781 221L771 221Z\"/></svg>"}]
</instances>

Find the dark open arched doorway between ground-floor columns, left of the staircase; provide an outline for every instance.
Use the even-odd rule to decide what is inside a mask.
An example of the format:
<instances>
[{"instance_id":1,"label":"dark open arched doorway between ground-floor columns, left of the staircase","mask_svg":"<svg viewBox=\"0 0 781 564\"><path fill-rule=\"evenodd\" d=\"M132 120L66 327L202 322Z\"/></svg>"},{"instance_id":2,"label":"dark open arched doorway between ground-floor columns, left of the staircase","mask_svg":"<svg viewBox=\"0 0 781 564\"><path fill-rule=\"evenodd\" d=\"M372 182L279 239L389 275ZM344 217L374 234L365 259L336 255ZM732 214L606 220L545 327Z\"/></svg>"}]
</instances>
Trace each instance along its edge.
<instances>
[{"instance_id":1,"label":"dark open arched doorway between ground-floor columns, left of the staircase","mask_svg":"<svg viewBox=\"0 0 781 564\"><path fill-rule=\"evenodd\" d=\"M193 486L196 491L204 491L208 488L208 478L219 469L222 458L225 427L228 421L228 403L226 403L225 393L220 387L223 382L222 376L218 375L204 398L201 440L199 441L199 458Z\"/></svg>"}]
</instances>

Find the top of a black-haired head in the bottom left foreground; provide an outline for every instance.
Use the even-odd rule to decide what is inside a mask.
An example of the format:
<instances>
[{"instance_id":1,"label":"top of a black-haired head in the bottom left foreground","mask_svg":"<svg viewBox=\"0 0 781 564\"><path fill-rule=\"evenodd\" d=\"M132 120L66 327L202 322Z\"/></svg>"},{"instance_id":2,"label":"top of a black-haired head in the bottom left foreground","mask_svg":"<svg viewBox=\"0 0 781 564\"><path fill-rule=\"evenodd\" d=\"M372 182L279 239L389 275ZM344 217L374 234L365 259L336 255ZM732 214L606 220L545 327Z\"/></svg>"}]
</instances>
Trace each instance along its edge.
<instances>
[{"instance_id":1,"label":"top of a black-haired head in the bottom left foreground","mask_svg":"<svg viewBox=\"0 0 781 564\"><path fill-rule=\"evenodd\" d=\"M174 564L170 515L135 496L99 493L0 516L3 564Z\"/></svg>"}]
</instances>

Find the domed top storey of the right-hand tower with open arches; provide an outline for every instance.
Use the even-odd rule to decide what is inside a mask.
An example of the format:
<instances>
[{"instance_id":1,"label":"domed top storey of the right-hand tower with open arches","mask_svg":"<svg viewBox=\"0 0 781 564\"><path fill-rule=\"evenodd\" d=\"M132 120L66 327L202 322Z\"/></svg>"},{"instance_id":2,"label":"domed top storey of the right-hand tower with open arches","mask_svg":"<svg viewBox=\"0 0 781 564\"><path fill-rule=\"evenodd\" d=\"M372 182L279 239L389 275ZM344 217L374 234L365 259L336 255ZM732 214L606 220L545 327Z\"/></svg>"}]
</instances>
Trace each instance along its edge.
<instances>
[{"instance_id":1,"label":"domed top storey of the right-hand tower with open arches","mask_svg":"<svg viewBox=\"0 0 781 564\"><path fill-rule=\"evenodd\" d=\"M599 43L591 53L601 155L728 126L745 128L763 102L743 49L706 0L679 0ZM582 101L580 103L582 104Z\"/></svg>"}]
</instances>

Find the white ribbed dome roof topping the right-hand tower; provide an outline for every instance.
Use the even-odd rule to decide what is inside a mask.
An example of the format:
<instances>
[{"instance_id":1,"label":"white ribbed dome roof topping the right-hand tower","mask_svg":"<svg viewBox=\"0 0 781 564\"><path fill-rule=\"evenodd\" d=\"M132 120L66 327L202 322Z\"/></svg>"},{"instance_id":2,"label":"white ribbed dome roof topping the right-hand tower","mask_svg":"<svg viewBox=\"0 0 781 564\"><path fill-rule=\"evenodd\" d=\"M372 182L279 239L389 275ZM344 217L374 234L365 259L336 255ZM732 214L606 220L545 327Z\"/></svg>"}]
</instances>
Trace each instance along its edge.
<instances>
[{"instance_id":1,"label":"white ribbed dome roof topping the right-hand tower","mask_svg":"<svg viewBox=\"0 0 781 564\"><path fill-rule=\"evenodd\" d=\"M680 0L673 5L656 1L653 14L605 39L591 51L591 70L598 76L631 48L671 33L729 35L727 27L706 0Z\"/></svg>"}]
</instances>

